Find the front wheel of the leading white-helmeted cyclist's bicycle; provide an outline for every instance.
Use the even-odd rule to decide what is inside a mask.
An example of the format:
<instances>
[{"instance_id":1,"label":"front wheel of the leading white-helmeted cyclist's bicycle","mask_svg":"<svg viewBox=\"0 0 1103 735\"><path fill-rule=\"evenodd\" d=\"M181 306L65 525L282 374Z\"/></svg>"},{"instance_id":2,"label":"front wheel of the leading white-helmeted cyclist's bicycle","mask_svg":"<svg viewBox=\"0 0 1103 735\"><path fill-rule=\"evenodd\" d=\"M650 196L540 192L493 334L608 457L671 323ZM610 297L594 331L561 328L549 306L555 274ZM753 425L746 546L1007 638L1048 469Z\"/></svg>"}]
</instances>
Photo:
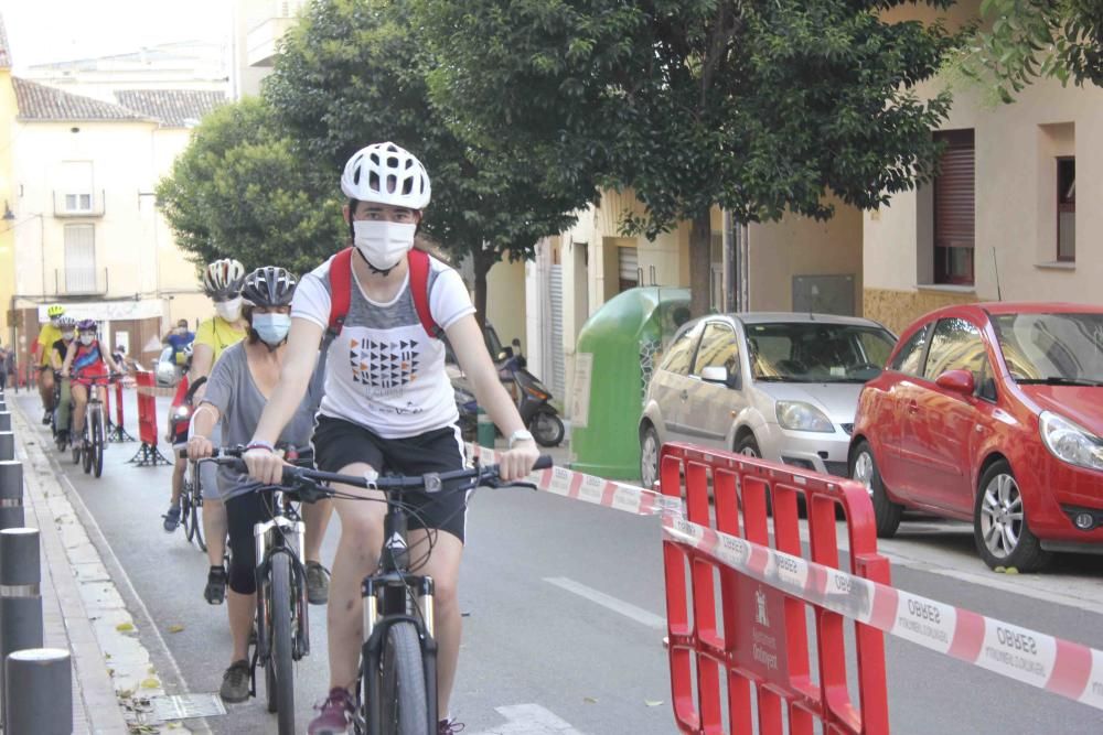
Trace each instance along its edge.
<instances>
[{"instance_id":1,"label":"front wheel of the leading white-helmeted cyclist's bicycle","mask_svg":"<svg viewBox=\"0 0 1103 735\"><path fill-rule=\"evenodd\" d=\"M429 726L429 701L421 639L413 623L397 623L387 630L376 675L381 678L378 735L424 735ZM364 701L368 702L366 692Z\"/></svg>"}]
</instances>

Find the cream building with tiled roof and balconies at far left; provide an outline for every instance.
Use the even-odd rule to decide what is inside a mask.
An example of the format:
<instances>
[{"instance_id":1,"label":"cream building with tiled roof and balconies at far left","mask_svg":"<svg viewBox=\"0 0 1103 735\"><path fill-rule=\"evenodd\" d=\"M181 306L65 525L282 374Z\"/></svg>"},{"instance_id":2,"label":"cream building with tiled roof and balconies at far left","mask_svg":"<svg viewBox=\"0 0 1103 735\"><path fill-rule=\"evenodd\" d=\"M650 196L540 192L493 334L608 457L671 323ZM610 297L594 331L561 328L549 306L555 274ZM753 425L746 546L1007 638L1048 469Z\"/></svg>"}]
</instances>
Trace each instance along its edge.
<instances>
[{"instance_id":1,"label":"cream building with tiled roof and balconies at far left","mask_svg":"<svg viewBox=\"0 0 1103 735\"><path fill-rule=\"evenodd\" d=\"M13 77L12 335L24 354L49 304L95 318L149 364L178 318L210 313L196 266L176 247L153 191L192 121L224 101L208 90L120 89L115 101Z\"/></svg>"}]
</instances>

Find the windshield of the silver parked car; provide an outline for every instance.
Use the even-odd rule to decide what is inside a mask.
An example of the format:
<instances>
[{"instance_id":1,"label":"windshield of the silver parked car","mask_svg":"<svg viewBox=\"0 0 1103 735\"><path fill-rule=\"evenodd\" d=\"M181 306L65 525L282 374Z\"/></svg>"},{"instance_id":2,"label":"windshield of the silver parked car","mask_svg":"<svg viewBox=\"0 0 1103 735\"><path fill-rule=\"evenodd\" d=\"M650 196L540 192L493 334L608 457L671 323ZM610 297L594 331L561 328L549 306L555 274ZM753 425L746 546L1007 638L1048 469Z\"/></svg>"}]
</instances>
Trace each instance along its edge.
<instances>
[{"instance_id":1,"label":"windshield of the silver parked car","mask_svg":"<svg viewBox=\"0 0 1103 735\"><path fill-rule=\"evenodd\" d=\"M748 324L756 380L866 382L880 375L896 343L880 327L824 322Z\"/></svg>"}]
</instances>

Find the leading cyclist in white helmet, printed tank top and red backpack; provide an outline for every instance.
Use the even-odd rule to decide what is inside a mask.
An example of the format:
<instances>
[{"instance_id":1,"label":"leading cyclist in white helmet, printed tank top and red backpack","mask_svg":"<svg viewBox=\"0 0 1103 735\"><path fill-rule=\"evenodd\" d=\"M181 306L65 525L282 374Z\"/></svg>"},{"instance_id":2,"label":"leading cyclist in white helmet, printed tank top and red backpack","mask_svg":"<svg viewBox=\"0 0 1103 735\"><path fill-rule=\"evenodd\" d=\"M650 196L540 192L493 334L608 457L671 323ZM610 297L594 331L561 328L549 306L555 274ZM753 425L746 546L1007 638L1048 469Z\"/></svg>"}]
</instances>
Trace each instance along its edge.
<instances>
[{"instance_id":1,"label":"leading cyclist in white helmet, printed tank top and red backpack","mask_svg":"<svg viewBox=\"0 0 1103 735\"><path fill-rule=\"evenodd\" d=\"M510 437L503 478L526 475L539 455L497 378L463 281L445 263L411 252L430 195L421 163L394 143L368 145L345 165L341 190L349 197L344 214L355 247L299 282L280 381L245 454L250 474L260 482L279 480L281 463L272 444L307 393L314 355L329 327L331 335L340 332L341 337L324 345L329 359L313 435L320 469L420 475L463 466L456 401L445 372L443 334L470 377L479 404ZM428 294L413 291L415 266ZM345 313L334 314L335 305ZM419 313L425 309L430 315ZM350 359L350 345L355 359ZM338 487L361 497L382 497ZM448 705L460 649L457 584L467 498L457 493L416 495L404 496L416 508L409 543L419 551L411 556L424 556L435 539L432 553L417 572L436 584L437 703L445 717L438 733L454 733L461 725L449 717ZM335 735L349 727L350 689L356 682L363 642L360 583L375 569L383 545L385 504L339 499L334 507L341 517L341 541L328 610L331 689L310 724L311 735Z\"/></svg>"}]
</instances>

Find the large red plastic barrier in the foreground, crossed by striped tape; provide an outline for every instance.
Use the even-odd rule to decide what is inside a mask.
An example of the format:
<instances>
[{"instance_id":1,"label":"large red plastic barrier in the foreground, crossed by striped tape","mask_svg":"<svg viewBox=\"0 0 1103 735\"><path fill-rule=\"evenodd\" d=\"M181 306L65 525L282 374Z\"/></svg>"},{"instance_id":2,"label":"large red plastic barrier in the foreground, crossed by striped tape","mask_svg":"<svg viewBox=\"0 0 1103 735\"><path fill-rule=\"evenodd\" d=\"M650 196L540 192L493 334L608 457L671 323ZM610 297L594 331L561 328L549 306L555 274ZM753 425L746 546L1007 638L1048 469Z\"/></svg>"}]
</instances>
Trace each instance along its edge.
<instances>
[{"instance_id":1,"label":"large red plastic barrier in the foreground, crossed by striped tape","mask_svg":"<svg viewBox=\"0 0 1103 735\"><path fill-rule=\"evenodd\" d=\"M671 500L682 500L684 490L690 522L797 558L806 558L799 519L803 499L811 537L808 559L835 569L839 568L836 511L842 509L850 572L889 583L888 560L877 553L872 506L857 483L684 444L663 447L660 480ZM710 486L715 512L709 507ZM843 615L741 574L670 536L663 541L663 558L671 688L681 732L721 733L727 718L728 732L740 735L780 734L786 722L788 732L802 735L816 732L817 724L823 733L888 733L885 641L879 630L855 624L859 701L855 707L847 689ZM769 561L769 553L752 553L750 563L764 572ZM780 577L794 572L771 571ZM826 575L816 584L825 586ZM810 671L810 607L815 677ZM724 680L726 692L721 691Z\"/></svg>"}]
</instances>

